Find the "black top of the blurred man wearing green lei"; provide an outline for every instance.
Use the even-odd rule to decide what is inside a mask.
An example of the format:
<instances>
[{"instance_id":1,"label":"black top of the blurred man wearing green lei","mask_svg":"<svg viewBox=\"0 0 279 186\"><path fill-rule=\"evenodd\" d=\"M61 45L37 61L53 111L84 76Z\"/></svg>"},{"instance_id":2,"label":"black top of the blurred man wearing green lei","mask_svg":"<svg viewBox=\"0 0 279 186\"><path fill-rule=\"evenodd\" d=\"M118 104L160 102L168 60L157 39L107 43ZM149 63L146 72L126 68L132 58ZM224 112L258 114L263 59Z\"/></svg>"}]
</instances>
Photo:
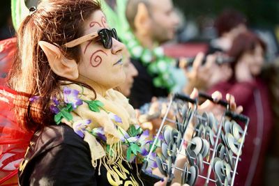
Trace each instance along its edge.
<instances>
[{"instance_id":1,"label":"black top of the blurred man wearing green lei","mask_svg":"<svg viewBox=\"0 0 279 186\"><path fill-rule=\"evenodd\" d=\"M135 109L140 109L143 104L151 102L152 97L167 97L166 88L158 88L153 85L153 77L147 72L146 66L142 65L140 59L131 59L133 65L139 72L134 78L133 88L130 94L130 104Z\"/></svg>"}]
</instances>

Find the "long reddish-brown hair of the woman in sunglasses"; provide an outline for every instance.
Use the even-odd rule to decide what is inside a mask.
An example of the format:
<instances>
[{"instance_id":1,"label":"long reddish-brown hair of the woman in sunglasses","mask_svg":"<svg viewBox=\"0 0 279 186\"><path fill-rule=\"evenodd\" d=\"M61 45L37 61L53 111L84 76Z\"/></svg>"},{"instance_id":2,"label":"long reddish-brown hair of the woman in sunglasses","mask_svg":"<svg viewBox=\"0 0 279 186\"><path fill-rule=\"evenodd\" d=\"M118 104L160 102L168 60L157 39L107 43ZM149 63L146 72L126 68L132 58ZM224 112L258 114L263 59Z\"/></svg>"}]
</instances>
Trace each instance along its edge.
<instances>
[{"instance_id":1,"label":"long reddish-brown hair of the woman in sunglasses","mask_svg":"<svg viewBox=\"0 0 279 186\"><path fill-rule=\"evenodd\" d=\"M93 0L44 0L27 16L17 31L17 51L8 75L8 86L20 93L38 96L29 98L15 107L18 120L27 130L36 130L53 121L50 100L59 90L59 80L52 72L47 56L38 45L40 40L50 42L68 58L80 61L80 47L61 47L66 42L82 36L82 22L91 13L100 10L100 3ZM36 102L36 104L35 104Z\"/></svg>"}]
</instances>

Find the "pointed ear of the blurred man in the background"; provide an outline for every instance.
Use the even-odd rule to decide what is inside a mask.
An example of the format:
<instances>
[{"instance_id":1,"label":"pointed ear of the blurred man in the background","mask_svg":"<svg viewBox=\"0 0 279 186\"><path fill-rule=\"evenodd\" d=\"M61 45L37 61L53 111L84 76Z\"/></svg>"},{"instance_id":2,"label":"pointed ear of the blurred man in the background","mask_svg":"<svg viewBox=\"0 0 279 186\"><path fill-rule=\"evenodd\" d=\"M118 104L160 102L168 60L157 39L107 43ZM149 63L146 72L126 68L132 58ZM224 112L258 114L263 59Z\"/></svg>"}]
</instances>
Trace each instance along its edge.
<instances>
[{"instance_id":1,"label":"pointed ear of the blurred man in the background","mask_svg":"<svg viewBox=\"0 0 279 186\"><path fill-rule=\"evenodd\" d=\"M137 14L135 15L134 25L135 30L145 35L149 31L150 17L147 7L144 3L139 3L137 6Z\"/></svg>"}]
</instances>

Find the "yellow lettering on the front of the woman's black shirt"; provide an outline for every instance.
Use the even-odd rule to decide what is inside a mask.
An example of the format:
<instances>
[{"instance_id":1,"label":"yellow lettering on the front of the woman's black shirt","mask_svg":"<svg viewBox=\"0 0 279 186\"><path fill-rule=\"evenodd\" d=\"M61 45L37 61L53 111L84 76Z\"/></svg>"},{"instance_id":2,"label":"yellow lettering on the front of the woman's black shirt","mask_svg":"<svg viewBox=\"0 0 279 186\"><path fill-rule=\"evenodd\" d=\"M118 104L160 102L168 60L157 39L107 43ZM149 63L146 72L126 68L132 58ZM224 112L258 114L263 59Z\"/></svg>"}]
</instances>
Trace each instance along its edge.
<instances>
[{"instance_id":1,"label":"yellow lettering on the front of the woman's black shirt","mask_svg":"<svg viewBox=\"0 0 279 186\"><path fill-rule=\"evenodd\" d=\"M118 186L140 186L137 181L135 180L132 173L130 173L122 164L117 162L112 166L113 168L113 176L116 178L112 178L112 174L110 171L107 171L107 180L109 181L110 185ZM120 180L120 182L116 182L116 180Z\"/></svg>"}]
</instances>

